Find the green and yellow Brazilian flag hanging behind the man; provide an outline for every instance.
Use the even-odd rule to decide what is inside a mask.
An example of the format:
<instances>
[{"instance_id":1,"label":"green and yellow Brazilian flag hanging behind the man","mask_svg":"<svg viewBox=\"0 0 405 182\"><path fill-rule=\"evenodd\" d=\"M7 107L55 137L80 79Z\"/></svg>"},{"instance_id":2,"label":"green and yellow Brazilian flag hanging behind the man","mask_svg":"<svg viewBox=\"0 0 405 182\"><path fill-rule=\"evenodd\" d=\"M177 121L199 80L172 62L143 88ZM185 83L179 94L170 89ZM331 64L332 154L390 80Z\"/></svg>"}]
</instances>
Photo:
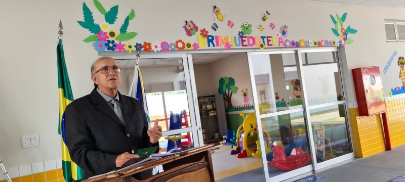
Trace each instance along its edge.
<instances>
[{"instance_id":1,"label":"green and yellow Brazilian flag hanging behind the man","mask_svg":"<svg viewBox=\"0 0 405 182\"><path fill-rule=\"evenodd\" d=\"M67 74L65 55L63 53L62 39L59 38L56 48L58 57L58 82L59 82L59 134L62 143L62 166L63 177L66 182L83 178L84 171L70 160L69 151L66 147L65 138L65 109L73 101L72 88L70 87L69 76Z\"/></svg>"}]
</instances>

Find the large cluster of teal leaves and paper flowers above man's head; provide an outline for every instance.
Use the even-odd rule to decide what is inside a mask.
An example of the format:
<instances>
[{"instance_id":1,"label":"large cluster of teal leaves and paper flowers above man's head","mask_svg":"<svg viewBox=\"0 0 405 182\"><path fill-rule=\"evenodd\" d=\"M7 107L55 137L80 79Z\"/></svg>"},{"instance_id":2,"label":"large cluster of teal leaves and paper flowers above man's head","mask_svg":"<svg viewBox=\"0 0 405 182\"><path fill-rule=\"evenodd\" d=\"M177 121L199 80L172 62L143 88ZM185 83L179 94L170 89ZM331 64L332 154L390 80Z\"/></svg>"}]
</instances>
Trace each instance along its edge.
<instances>
[{"instance_id":1,"label":"large cluster of teal leaves and paper flowers above man's head","mask_svg":"<svg viewBox=\"0 0 405 182\"><path fill-rule=\"evenodd\" d=\"M102 16L94 16L93 12L89 9L86 3L83 4L83 20L77 21L77 23L91 32L91 35L85 38L83 41L104 41L106 43L108 40L110 40L110 43L104 44L107 50L115 51L118 49L120 52L123 51L123 49L125 50L128 43L124 43L124 41L129 41L138 35L136 32L127 31L129 22L135 18L135 11L132 9L128 16L126 16L124 23L119 28L119 33L117 33L117 31L113 30L111 26L116 23L118 18L118 5L106 10L99 0L93 0L93 3ZM94 17L103 17L105 21L102 21L99 24L95 23ZM120 47L115 47L115 42L111 44L112 40L116 40L117 42L120 41L121 43L117 43L118 45L120 44Z\"/></svg>"}]
</instances>

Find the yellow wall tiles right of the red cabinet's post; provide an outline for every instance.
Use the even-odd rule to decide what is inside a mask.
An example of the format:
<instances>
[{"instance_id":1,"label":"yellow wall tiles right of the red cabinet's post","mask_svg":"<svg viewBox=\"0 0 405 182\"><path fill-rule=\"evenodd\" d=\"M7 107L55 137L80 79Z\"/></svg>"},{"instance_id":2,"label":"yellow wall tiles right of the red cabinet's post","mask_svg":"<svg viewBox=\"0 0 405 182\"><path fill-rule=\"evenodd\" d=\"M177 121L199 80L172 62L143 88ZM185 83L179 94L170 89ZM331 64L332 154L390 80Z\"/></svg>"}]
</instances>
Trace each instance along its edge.
<instances>
[{"instance_id":1,"label":"yellow wall tiles right of the red cabinet's post","mask_svg":"<svg viewBox=\"0 0 405 182\"><path fill-rule=\"evenodd\" d=\"M405 98L388 101L386 104L391 147L394 148L405 144Z\"/></svg>"}]
</instances>

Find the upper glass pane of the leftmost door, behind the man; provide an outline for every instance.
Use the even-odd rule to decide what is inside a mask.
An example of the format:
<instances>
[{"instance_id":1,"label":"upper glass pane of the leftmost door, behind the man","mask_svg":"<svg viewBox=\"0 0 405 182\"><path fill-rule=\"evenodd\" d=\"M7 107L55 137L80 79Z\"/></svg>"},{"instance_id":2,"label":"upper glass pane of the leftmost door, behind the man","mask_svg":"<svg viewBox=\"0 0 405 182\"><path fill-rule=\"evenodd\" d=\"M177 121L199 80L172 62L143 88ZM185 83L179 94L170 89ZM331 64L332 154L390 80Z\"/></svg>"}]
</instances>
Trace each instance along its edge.
<instances>
[{"instance_id":1,"label":"upper glass pane of the leftmost door, behind the man","mask_svg":"<svg viewBox=\"0 0 405 182\"><path fill-rule=\"evenodd\" d=\"M134 78L135 60L117 60L121 71L123 95L129 96ZM159 120L163 131L190 127L187 91L181 58L141 59L139 67L151 122ZM131 94L132 97L133 93ZM178 122L181 120L181 122Z\"/></svg>"}]
</instances>

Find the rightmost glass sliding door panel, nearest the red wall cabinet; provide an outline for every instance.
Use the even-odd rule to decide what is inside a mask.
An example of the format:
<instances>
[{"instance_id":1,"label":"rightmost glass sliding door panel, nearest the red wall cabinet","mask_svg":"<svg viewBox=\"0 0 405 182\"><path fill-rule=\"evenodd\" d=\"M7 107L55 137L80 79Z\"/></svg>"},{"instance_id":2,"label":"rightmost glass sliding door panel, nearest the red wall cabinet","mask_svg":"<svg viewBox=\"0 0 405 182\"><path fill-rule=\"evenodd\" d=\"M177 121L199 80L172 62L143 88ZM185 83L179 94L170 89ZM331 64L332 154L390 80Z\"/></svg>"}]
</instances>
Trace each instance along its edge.
<instances>
[{"instance_id":1,"label":"rightmost glass sliding door panel, nearest the red wall cabinet","mask_svg":"<svg viewBox=\"0 0 405 182\"><path fill-rule=\"evenodd\" d=\"M303 87L307 88L306 114L314 140L314 167L317 170L353 158L354 155L338 51L304 51L300 51L301 73Z\"/></svg>"}]
</instances>

